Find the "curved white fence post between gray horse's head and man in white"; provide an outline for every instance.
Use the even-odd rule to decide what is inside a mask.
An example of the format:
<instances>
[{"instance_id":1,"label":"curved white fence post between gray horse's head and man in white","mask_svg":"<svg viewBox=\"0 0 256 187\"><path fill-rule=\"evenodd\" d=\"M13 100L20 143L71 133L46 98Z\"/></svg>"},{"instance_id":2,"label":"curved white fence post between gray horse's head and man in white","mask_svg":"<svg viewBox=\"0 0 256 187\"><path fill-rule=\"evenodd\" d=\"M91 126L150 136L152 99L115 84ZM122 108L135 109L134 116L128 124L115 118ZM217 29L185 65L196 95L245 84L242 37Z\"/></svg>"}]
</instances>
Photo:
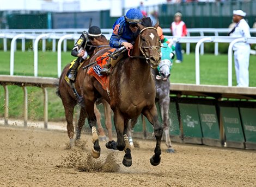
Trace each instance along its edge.
<instances>
[{"instance_id":1,"label":"curved white fence post between gray horse's head and man in white","mask_svg":"<svg viewBox=\"0 0 256 187\"><path fill-rule=\"evenodd\" d=\"M197 42L197 45L196 45L196 51L195 51L195 55L196 55L196 85L200 85L200 63L199 63L199 48L201 46L203 46L203 42L206 42L206 41L212 41L212 37L205 37L205 38L202 38L201 40L199 40Z\"/></svg>"}]
</instances>

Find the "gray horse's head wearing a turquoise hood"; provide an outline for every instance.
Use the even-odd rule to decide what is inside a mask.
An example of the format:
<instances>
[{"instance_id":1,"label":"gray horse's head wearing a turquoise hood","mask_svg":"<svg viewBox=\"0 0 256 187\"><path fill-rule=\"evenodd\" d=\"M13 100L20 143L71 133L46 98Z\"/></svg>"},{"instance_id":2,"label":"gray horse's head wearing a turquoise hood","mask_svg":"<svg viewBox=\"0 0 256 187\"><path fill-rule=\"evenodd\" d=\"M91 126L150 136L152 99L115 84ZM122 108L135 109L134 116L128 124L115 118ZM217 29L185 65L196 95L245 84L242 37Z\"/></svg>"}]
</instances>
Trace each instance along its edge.
<instances>
[{"instance_id":1,"label":"gray horse's head wearing a turquoise hood","mask_svg":"<svg viewBox=\"0 0 256 187\"><path fill-rule=\"evenodd\" d=\"M174 53L173 48L169 47L167 43L162 43L161 49L161 62L157 67L159 75L156 76L157 80L167 81L170 76L170 70L173 66Z\"/></svg>"}]
</instances>

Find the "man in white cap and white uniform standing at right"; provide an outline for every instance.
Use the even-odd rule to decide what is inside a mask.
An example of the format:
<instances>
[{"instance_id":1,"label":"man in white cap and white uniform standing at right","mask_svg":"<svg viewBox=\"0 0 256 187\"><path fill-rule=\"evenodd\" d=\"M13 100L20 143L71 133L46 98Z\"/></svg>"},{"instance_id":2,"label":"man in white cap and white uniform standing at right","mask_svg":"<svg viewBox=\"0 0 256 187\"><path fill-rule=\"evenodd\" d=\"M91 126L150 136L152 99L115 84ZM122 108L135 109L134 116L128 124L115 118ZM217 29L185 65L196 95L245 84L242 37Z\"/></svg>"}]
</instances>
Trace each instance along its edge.
<instances>
[{"instance_id":1,"label":"man in white cap and white uniform standing at right","mask_svg":"<svg viewBox=\"0 0 256 187\"><path fill-rule=\"evenodd\" d=\"M233 21L236 23L235 27L228 34L232 37L251 37L248 23L243 17L246 12L242 10L233 11ZM239 87L249 86L249 57L251 47L248 43L237 42L233 47L235 56L235 72L236 82Z\"/></svg>"}]
</instances>

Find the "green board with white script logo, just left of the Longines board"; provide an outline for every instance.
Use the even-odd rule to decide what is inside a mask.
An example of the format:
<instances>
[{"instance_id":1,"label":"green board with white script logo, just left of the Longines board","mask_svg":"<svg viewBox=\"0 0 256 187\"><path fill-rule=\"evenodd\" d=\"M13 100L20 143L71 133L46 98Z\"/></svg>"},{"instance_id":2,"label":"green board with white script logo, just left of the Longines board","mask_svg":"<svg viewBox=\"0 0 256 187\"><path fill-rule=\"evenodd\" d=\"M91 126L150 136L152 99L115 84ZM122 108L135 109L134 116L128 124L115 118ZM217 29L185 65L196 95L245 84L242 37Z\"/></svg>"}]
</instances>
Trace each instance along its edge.
<instances>
[{"instance_id":1,"label":"green board with white script logo, just left of the Longines board","mask_svg":"<svg viewBox=\"0 0 256 187\"><path fill-rule=\"evenodd\" d=\"M197 105L179 104L184 137L202 138Z\"/></svg>"}]
</instances>

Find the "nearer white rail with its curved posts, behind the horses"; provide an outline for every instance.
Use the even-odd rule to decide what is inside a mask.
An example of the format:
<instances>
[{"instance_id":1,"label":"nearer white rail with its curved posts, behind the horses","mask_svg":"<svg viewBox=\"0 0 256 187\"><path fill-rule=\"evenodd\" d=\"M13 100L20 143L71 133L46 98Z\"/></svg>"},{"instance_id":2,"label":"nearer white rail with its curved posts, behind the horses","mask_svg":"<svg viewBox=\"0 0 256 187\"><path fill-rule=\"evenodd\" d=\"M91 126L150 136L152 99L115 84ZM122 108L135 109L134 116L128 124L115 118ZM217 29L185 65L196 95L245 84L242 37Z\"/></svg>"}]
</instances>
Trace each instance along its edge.
<instances>
[{"instance_id":1,"label":"nearer white rail with its curved posts, behind the horses","mask_svg":"<svg viewBox=\"0 0 256 187\"><path fill-rule=\"evenodd\" d=\"M3 36L0 34L0 37ZM58 59L57 59L57 74L60 77L62 73L62 43L66 40L75 40L79 37L79 34L67 34L67 35L57 35L57 34L41 34L41 35L33 35L33 34L19 34L13 37L11 41L11 53L10 53L10 75L14 75L14 52L15 52L15 44L16 40L19 38L29 38L34 40L34 76L38 76L38 42L40 39L45 40L46 38L52 38L53 40L59 39L58 41ZM10 37L10 36L4 36ZM200 85L200 62L199 62L199 49L201 47L200 54L202 53L202 48L204 42L214 42L216 43L230 43L229 53L228 53L228 86L232 86L232 48L234 42L247 42L247 43L256 43L256 37L250 38L240 38L239 40L235 40L234 37L229 36L211 36L211 37L202 37L202 36L192 36L192 37L171 37L166 36L167 38L173 38L174 42L179 43L197 43L195 50L195 66L196 66L196 85ZM234 41L235 40L235 41ZM233 42L233 43L232 43ZM65 46L65 45L64 45ZM65 47L64 47L65 51Z\"/></svg>"}]
</instances>

